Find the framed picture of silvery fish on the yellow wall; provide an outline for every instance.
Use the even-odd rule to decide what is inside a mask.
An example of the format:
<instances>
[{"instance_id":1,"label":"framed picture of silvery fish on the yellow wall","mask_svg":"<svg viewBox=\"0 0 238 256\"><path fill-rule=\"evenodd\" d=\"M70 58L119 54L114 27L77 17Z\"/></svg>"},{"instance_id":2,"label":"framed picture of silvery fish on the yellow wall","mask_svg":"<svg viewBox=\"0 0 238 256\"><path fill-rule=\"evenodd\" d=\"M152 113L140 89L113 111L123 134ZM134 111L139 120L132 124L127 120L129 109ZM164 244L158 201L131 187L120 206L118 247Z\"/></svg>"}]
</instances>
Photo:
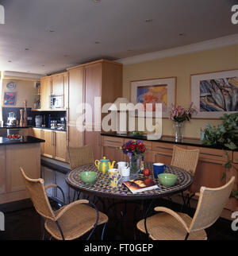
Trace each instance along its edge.
<instances>
[{"instance_id":1,"label":"framed picture of silvery fish on the yellow wall","mask_svg":"<svg viewBox=\"0 0 238 256\"><path fill-rule=\"evenodd\" d=\"M190 75L194 119L219 119L238 111L238 69Z\"/></svg>"}]
</instances>

